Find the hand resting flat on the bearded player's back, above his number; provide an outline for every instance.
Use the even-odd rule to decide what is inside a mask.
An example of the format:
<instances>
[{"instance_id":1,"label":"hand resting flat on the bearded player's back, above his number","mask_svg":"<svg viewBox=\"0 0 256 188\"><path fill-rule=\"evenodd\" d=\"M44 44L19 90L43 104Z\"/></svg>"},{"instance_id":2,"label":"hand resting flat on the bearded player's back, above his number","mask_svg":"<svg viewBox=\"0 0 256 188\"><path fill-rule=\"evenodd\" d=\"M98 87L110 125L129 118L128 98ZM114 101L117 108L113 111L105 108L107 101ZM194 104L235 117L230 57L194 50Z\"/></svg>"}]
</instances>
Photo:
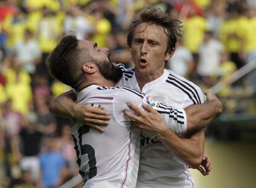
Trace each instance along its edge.
<instances>
[{"instance_id":1,"label":"hand resting flat on the bearded player's back, above his number","mask_svg":"<svg viewBox=\"0 0 256 188\"><path fill-rule=\"evenodd\" d=\"M104 129L101 126L108 125L110 116L103 107L92 107L90 105L79 104L75 108L75 119L103 132Z\"/></svg>"}]
</instances>

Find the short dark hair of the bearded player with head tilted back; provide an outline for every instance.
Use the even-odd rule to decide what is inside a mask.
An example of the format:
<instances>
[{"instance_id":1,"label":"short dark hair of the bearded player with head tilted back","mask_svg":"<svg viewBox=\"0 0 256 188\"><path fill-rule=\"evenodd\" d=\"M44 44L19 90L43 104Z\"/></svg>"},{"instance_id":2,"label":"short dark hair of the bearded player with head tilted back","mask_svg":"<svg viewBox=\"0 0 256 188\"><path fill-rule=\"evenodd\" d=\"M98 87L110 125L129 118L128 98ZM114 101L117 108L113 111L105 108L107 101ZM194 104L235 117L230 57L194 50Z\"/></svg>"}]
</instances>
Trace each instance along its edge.
<instances>
[{"instance_id":1,"label":"short dark hair of the bearded player with head tilted back","mask_svg":"<svg viewBox=\"0 0 256 188\"><path fill-rule=\"evenodd\" d=\"M85 79L82 71L84 62L92 58L87 49L79 49L78 43L76 36L65 36L47 59L51 75L74 89Z\"/></svg>"}]
</instances>

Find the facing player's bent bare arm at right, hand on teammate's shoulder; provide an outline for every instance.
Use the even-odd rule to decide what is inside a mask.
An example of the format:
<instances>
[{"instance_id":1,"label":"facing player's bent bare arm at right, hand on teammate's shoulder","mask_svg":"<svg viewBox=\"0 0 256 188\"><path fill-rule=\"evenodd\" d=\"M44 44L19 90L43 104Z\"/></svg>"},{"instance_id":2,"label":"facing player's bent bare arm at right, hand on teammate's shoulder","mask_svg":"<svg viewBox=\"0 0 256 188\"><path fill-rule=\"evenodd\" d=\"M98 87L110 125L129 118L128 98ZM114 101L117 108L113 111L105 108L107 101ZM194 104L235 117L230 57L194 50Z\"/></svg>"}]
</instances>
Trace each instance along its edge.
<instances>
[{"instance_id":1,"label":"facing player's bent bare arm at right, hand on teammate's shoulder","mask_svg":"<svg viewBox=\"0 0 256 188\"><path fill-rule=\"evenodd\" d=\"M141 131L155 134L161 142L163 142L169 150L176 153L184 163L191 168L197 168L203 158L203 144L205 139L203 129L197 130L193 134L188 134L186 138L181 138L163 123L161 116L156 115L158 112L156 112L155 109L147 104L142 104L142 106L147 112L143 112L133 104L129 104L129 107L131 107L137 115L133 115L127 111L124 112L125 115L135 121L133 125Z\"/></svg>"}]
</instances>

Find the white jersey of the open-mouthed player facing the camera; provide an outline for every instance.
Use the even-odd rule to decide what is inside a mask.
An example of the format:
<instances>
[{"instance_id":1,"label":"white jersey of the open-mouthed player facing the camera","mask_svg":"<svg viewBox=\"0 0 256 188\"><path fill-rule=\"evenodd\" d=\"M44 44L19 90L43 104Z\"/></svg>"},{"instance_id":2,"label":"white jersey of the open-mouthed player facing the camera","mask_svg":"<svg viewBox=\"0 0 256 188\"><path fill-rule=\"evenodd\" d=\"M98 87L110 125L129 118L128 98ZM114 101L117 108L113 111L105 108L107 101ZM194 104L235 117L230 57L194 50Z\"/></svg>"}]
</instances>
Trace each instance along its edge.
<instances>
[{"instance_id":1,"label":"white jersey of the open-mouthed player facing the camera","mask_svg":"<svg viewBox=\"0 0 256 188\"><path fill-rule=\"evenodd\" d=\"M123 75L116 86L129 86L140 91L134 68L126 69L122 64L118 67L122 69ZM160 78L145 84L142 92L174 108L203 103L203 93L198 86L169 70L164 70ZM155 135L141 133L137 188L146 187L192 188L194 180L190 176L188 166L176 158L174 153L170 153Z\"/></svg>"}]
</instances>

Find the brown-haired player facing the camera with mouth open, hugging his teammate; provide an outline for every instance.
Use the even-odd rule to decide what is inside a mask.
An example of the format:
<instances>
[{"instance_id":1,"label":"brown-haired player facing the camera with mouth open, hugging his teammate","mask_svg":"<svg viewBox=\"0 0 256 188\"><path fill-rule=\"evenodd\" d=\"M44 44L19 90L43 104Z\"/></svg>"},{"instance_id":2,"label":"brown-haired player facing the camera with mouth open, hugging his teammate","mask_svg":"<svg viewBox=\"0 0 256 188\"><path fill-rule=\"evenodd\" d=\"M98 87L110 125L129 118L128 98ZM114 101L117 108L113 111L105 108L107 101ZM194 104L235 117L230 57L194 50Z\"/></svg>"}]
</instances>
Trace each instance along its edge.
<instances>
[{"instance_id":1,"label":"brown-haired player facing the camera with mouth open, hugging his teammate","mask_svg":"<svg viewBox=\"0 0 256 188\"><path fill-rule=\"evenodd\" d=\"M194 181L187 168L200 165L205 141L203 129L198 128L207 125L222 110L221 102L214 96L210 96L211 101L207 104L195 105L203 103L200 88L164 68L173 55L180 36L179 20L163 14L159 9L146 8L140 12L139 19L132 23L127 36L135 68L126 70L119 65L123 75L116 86L130 86L158 102L177 108L192 105L189 109L196 112L186 111L188 132L181 139L167 126L151 123L154 116L150 113L143 113L139 108L130 105L138 116L129 112L126 115L135 120L135 126L143 131L137 179L139 188L193 187ZM72 93L68 92L54 100L50 105L51 112L77 117L98 129L98 125L108 124L104 121L108 119L108 113L102 108L95 110L88 106L75 105L70 99L71 96ZM189 131L191 125L197 125L197 129Z\"/></svg>"}]
</instances>

